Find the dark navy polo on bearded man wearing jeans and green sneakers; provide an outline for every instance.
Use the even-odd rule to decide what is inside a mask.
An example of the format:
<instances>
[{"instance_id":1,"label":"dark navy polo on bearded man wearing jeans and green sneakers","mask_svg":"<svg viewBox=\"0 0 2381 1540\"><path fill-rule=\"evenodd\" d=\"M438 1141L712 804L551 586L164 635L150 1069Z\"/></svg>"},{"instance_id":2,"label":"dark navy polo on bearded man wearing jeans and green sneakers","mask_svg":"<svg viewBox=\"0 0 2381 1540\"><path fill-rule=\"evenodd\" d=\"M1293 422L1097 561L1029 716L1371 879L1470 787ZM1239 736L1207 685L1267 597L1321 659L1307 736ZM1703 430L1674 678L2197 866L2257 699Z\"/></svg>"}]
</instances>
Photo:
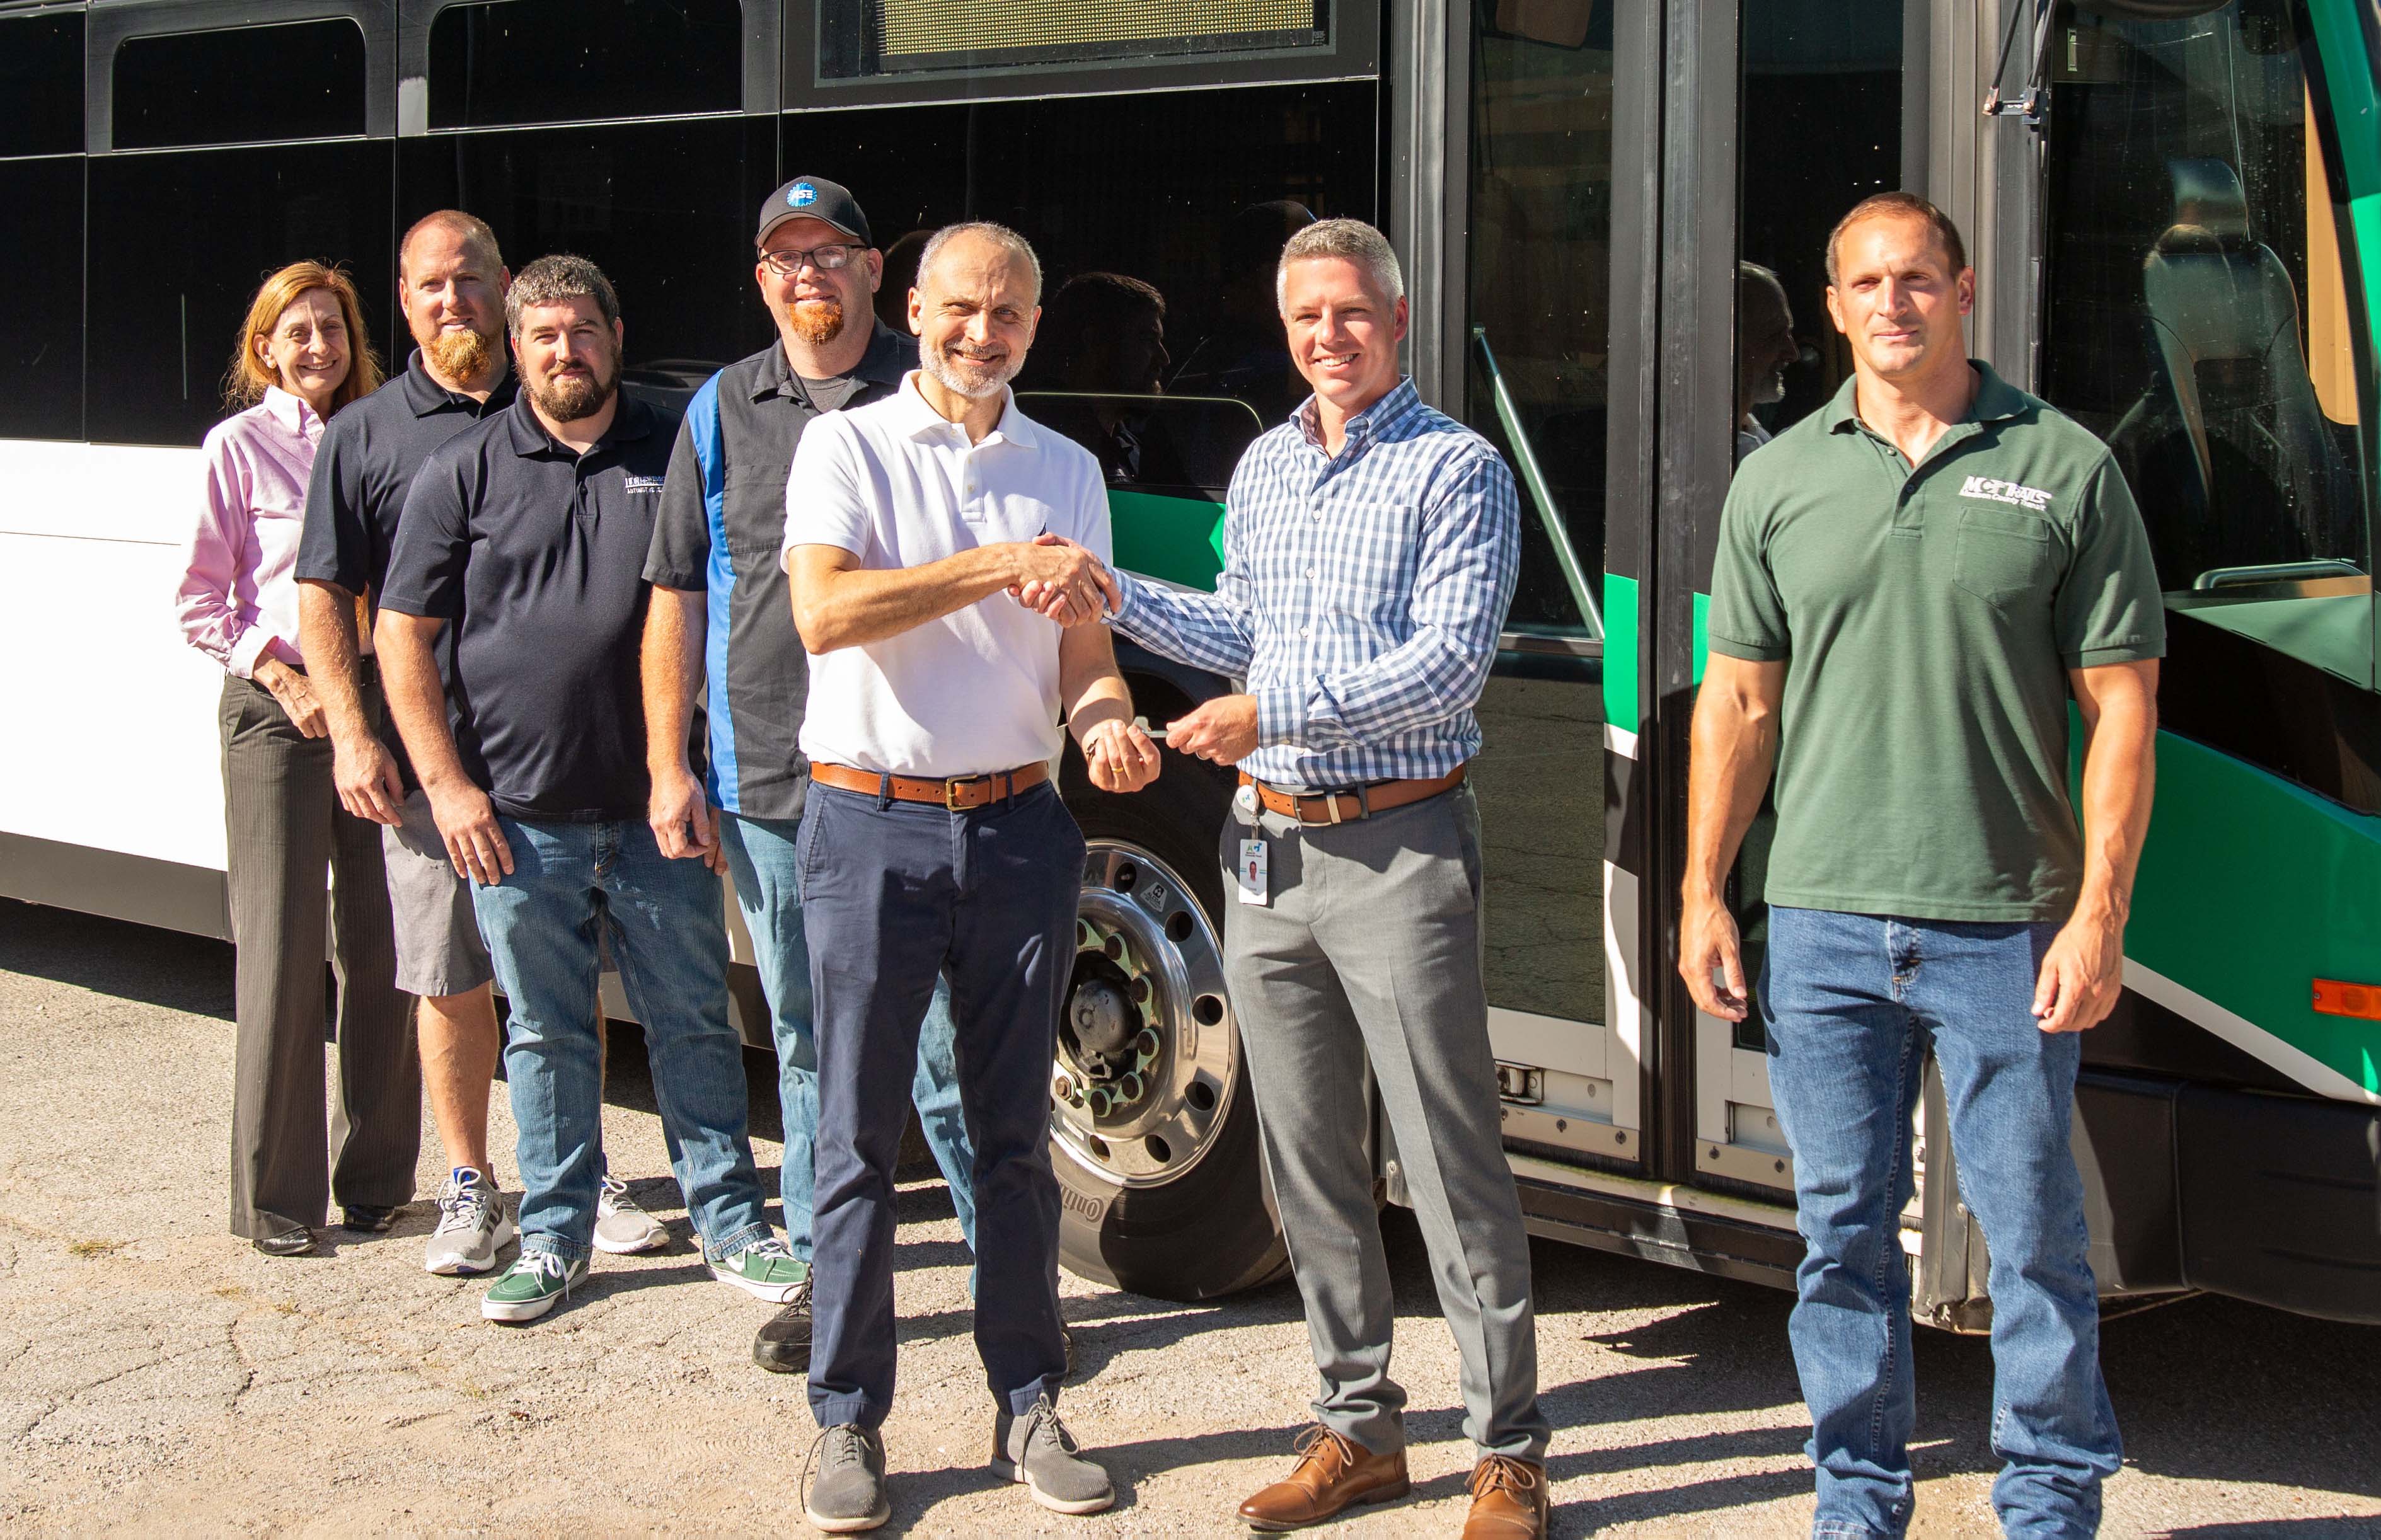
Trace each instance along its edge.
<instances>
[{"instance_id":1,"label":"dark navy polo on bearded man wearing jeans and green sneakers","mask_svg":"<svg viewBox=\"0 0 2381 1540\"><path fill-rule=\"evenodd\" d=\"M429 457L381 607L448 621L448 719L498 812L643 819L645 550L676 417L629 390L579 455L524 395Z\"/></svg>"}]
</instances>

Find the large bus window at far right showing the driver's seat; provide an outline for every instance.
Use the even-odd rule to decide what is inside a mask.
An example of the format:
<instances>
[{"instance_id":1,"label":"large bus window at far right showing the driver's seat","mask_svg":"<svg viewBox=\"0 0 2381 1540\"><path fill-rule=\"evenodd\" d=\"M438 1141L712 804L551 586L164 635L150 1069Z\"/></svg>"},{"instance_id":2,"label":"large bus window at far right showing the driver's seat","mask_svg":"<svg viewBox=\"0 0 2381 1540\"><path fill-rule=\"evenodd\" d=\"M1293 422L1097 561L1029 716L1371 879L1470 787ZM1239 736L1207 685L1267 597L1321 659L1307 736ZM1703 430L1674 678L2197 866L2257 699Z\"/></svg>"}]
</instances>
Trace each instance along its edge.
<instances>
[{"instance_id":1,"label":"large bus window at far right showing the driver's seat","mask_svg":"<svg viewBox=\"0 0 2381 1540\"><path fill-rule=\"evenodd\" d=\"M2369 686L2348 293L2295 0L2052 38L2043 393L2131 478L2176 612Z\"/></svg>"}]
</instances>

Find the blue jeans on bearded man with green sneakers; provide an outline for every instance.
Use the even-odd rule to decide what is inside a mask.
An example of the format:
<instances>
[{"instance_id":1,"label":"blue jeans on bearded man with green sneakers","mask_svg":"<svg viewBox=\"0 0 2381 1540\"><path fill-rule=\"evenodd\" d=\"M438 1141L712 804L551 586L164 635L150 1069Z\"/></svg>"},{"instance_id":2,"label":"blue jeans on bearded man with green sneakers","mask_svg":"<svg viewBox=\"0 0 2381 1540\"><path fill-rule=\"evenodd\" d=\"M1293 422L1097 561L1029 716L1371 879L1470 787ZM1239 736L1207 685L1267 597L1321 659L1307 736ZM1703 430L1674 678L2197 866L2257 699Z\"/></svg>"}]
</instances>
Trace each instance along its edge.
<instances>
[{"instance_id":1,"label":"blue jeans on bearded man with green sneakers","mask_svg":"<svg viewBox=\"0 0 2381 1540\"><path fill-rule=\"evenodd\" d=\"M602 1181L602 1016L595 938L607 933L645 1026L669 1169L707 1257L769 1238L745 1135L743 1040L729 1026L719 878L671 862L643 819L526 824L498 816L512 876L471 885L510 1000L505 1081L521 1164L521 1250L586 1257Z\"/></svg>"}]
</instances>

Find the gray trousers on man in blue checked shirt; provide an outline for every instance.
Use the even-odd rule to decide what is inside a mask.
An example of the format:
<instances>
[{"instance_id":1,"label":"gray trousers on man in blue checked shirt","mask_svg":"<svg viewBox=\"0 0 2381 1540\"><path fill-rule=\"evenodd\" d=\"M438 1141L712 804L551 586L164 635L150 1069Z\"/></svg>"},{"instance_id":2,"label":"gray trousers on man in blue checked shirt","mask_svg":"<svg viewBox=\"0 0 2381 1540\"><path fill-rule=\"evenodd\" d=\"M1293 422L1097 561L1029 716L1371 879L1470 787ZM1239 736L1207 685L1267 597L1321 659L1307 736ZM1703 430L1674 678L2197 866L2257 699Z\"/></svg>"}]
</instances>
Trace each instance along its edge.
<instances>
[{"instance_id":1,"label":"gray trousers on man in blue checked shirt","mask_svg":"<svg viewBox=\"0 0 2381 1540\"><path fill-rule=\"evenodd\" d=\"M1260 831L1262 907L1233 897L1241 840ZM1483 1454L1545 1459L1529 1235L1498 1133L1481 988L1471 788L1329 828L1236 809L1217 857L1241 1054L1321 1371L1314 1416L1374 1454L1405 1445L1364 1150L1369 1062L1462 1354L1464 1433Z\"/></svg>"}]
</instances>

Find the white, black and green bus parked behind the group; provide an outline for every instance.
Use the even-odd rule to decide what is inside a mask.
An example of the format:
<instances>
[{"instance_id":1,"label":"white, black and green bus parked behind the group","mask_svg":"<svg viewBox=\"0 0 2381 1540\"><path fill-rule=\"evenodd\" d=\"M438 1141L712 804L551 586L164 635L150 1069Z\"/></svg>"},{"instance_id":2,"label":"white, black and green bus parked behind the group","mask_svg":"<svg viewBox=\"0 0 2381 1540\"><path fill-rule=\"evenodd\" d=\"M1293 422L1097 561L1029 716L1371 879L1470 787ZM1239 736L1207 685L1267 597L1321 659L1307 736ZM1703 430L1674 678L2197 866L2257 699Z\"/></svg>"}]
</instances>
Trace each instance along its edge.
<instances>
[{"instance_id":1,"label":"white, black and green bus parked behind the group","mask_svg":"<svg viewBox=\"0 0 2381 1540\"><path fill-rule=\"evenodd\" d=\"M2171 612L2126 995L2079 1090L2102 1290L2381 1321L2376 62L2376 0L0 0L0 893L226 931L214 690L167 595L262 271L345 262L402 350L395 233L460 205L514 264L598 259L631 378L683 395L771 336L748 221L783 176L855 188L895 269L905 231L1000 219L1062 338L1029 412L1102 455L1119 562L1198 588L1236 452L1300 395L1271 257L1352 214L1407 264L1424 400L1524 488L1474 764L1524 1209L1791 1283L1760 1033L1674 971L1686 719L1738 436L1845 376L1821 240L1900 186L1969 233L1976 352L2114 447ZM1743 264L1783 333L1738 314ZM1157 721L1231 688L1126 669ZM1067 1264L1179 1300L1279 1276L1229 788L1181 757L1138 797L1064 785ZM1919 1123L1917 1311L1976 1328L1938 1093ZM1400 1202L1386 1128L1379 1176Z\"/></svg>"}]
</instances>

